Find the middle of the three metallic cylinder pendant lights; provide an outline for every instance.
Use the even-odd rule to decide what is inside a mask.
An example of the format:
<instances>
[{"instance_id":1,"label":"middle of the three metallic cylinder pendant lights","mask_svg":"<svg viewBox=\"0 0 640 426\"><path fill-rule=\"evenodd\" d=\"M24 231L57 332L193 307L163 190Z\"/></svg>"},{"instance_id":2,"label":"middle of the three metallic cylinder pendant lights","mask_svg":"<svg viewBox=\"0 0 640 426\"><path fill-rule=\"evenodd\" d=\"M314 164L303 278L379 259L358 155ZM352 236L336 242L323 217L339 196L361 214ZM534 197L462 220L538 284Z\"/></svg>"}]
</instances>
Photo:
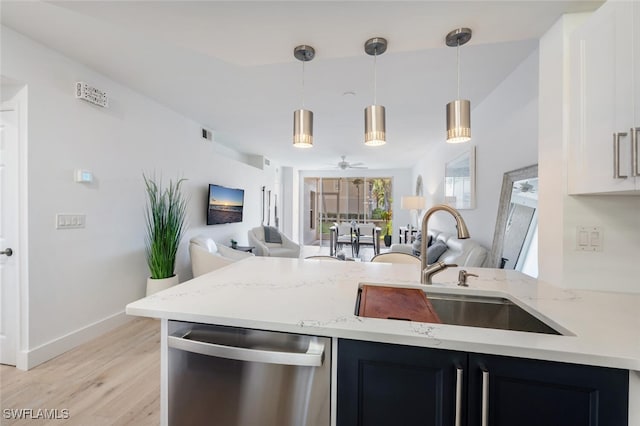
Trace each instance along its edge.
<instances>
[{"instance_id":1,"label":"middle of the three metallic cylinder pendant lights","mask_svg":"<svg viewBox=\"0 0 640 426\"><path fill-rule=\"evenodd\" d=\"M387 142L385 110L376 105L376 65L378 55L387 50L387 40L382 37L370 38L364 43L364 51L373 56L373 105L364 109L364 143L368 146L380 146Z\"/></svg>"}]
</instances>

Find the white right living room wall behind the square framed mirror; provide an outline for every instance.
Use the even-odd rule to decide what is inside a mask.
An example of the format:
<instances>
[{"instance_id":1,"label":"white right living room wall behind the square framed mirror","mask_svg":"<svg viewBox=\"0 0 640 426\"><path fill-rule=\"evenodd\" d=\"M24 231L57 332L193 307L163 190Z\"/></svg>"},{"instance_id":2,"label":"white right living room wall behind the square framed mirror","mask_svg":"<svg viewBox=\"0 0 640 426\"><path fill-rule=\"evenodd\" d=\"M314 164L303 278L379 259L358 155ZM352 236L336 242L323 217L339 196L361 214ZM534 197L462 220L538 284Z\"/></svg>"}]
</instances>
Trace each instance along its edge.
<instances>
[{"instance_id":1,"label":"white right living room wall behind the square framed mirror","mask_svg":"<svg viewBox=\"0 0 640 426\"><path fill-rule=\"evenodd\" d=\"M422 175L428 207L442 203L445 163L475 145L476 208L461 210L461 214L471 238L490 250L504 173L538 162L537 50L473 108L471 142L445 142L444 106L442 111L442 140L431 144L432 148L416 164L414 180ZM436 213L429 220L429 227L454 233L455 221L449 215Z\"/></svg>"}]
</instances>

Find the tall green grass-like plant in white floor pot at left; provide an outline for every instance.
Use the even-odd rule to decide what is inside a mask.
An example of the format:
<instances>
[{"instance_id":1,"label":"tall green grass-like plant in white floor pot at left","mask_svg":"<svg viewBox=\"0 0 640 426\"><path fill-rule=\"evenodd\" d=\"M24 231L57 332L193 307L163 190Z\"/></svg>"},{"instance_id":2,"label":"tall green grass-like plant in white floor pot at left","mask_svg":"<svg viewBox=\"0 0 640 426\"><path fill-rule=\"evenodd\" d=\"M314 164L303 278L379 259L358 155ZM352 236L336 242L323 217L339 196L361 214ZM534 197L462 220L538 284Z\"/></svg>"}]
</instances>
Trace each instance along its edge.
<instances>
[{"instance_id":1,"label":"tall green grass-like plant in white floor pot at left","mask_svg":"<svg viewBox=\"0 0 640 426\"><path fill-rule=\"evenodd\" d=\"M156 182L155 176L142 177L147 191L147 264L151 278L169 278L174 275L178 245L185 231L187 199L181 187L186 179L170 180L163 188L162 179Z\"/></svg>"}]
</instances>

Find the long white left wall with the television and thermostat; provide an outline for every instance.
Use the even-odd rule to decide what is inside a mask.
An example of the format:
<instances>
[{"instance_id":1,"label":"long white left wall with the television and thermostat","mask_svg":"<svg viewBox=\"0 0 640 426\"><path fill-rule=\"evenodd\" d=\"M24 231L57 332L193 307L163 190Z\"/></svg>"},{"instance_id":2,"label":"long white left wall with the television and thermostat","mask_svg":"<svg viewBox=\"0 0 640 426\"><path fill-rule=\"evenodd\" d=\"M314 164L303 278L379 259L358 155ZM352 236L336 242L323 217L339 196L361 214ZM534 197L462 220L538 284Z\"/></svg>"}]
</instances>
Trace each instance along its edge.
<instances>
[{"instance_id":1,"label":"long white left wall with the television and thermostat","mask_svg":"<svg viewBox=\"0 0 640 426\"><path fill-rule=\"evenodd\" d=\"M202 139L198 123L5 27L1 59L3 76L29 89L23 349L33 355L31 364L78 343L74 333L91 337L86 328L122 316L128 302L144 295L143 172L188 179L189 230L176 267L181 281L191 277L191 236L243 244L247 229L260 224L260 188L274 181L275 165L261 170L224 156L232 153ZM75 99L76 81L105 90L110 107ZM74 183L76 168L93 172L94 182ZM205 225L209 183L245 189L243 223ZM58 213L85 214L86 228L56 230Z\"/></svg>"}]
</instances>

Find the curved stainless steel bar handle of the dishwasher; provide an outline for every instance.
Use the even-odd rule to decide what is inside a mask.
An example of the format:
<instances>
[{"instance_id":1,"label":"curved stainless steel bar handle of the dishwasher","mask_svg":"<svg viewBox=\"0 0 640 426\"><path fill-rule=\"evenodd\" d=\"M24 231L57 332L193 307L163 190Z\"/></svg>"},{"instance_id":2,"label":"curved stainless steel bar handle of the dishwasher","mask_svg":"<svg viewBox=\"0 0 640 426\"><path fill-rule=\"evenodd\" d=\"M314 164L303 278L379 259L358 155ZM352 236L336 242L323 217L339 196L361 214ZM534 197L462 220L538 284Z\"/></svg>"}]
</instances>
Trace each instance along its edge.
<instances>
[{"instance_id":1,"label":"curved stainless steel bar handle of the dishwasher","mask_svg":"<svg viewBox=\"0 0 640 426\"><path fill-rule=\"evenodd\" d=\"M218 358L266 364L320 367L324 360L324 344L311 340L305 353L239 348L187 339L189 333L167 337L170 348Z\"/></svg>"}]
</instances>

